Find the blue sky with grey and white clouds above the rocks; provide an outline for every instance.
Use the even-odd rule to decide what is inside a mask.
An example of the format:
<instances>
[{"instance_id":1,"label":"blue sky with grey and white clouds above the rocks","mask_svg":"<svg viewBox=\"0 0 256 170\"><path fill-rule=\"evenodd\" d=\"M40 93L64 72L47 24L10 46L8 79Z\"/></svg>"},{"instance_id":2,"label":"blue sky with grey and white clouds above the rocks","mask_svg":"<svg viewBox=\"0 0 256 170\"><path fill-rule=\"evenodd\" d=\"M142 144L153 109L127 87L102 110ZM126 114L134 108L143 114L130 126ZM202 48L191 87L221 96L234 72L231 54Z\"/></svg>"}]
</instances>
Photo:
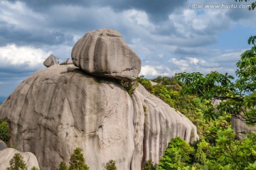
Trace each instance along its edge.
<instances>
[{"instance_id":1,"label":"blue sky with grey and white clouds above the rocks","mask_svg":"<svg viewBox=\"0 0 256 170\"><path fill-rule=\"evenodd\" d=\"M87 31L118 30L148 78L176 72L234 74L256 35L256 11L235 0L0 0L0 96L50 54L64 61ZM220 4L222 8L208 8ZM229 5L229 6L228 6ZM237 5L233 8L231 5Z\"/></svg>"}]
</instances>

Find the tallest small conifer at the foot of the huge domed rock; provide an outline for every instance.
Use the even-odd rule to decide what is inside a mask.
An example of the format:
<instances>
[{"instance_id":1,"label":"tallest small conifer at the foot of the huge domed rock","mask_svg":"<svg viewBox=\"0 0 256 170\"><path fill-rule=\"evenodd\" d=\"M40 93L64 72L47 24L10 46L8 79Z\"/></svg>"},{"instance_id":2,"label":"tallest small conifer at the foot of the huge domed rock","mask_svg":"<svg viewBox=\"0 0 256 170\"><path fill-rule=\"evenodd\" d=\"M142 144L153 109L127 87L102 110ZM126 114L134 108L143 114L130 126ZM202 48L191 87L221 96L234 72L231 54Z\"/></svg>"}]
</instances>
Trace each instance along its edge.
<instances>
[{"instance_id":1,"label":"tallest small conifer at the foot of the huge domed rock","mask_svg":"<svg viewBox=\"0 0 256 170\"><path fill-rule=\"evenodd\" d=\"M69 170L87 170L89 166L85 164L85 158L81 152L82 150L77 147L74 153L70 157L70 167Z\"/></svg>"}]
</instances>

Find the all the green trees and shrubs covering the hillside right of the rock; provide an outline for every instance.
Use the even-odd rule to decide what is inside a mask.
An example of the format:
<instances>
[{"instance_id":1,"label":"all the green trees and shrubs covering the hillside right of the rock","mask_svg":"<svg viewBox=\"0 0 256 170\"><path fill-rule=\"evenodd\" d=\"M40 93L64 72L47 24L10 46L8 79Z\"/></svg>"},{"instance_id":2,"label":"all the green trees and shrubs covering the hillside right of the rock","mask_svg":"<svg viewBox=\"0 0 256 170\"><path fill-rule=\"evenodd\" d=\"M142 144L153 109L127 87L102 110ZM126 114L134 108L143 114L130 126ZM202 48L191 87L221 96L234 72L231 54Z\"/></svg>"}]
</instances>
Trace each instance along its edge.
<instances>
[{"instance_id":1,"label":"all the green trees and shrubs covering the hillside right of the rock","mask_svg":"<svg viewBox=\"0 0 256 170\"><path fill-rule=\"evenodd\" d=\"M180 137L171 140L156 169L256 169L256 133L236 140L231 128L232 116L256 124L255 40L248 40L253 47L237 63L237 80L218 72L157 77L156 86L144 77L137 79L151 94L186 115L201 137L193 146ZM213 98L221 100L219 106L213 106Z\"/></svg>"}]
</instances>

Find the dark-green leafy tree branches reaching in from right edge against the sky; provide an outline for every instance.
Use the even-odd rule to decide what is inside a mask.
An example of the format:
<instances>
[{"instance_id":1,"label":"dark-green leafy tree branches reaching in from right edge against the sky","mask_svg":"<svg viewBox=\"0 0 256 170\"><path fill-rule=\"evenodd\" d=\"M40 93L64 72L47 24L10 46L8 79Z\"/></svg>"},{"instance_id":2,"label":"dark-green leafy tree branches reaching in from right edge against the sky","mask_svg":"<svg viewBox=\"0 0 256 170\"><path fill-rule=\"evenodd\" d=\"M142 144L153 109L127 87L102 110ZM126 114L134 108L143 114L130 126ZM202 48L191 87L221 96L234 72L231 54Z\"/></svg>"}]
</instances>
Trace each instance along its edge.
<instances>
[{"instance_id":1,"label":"dark-green leafy tree branches reaching in from right edge against the sky","mask_svg":"<svg viewBox=\"0 0 256 170\"><path fill-rule=\"evenodd\" d=\"M181 94L197 95L201 99L211 100L218 98L222 100L218 111L213 110L209 115L223 115L228 113L235 118L245 121L248 125L256 124L256 45L255 39L251 50L242 53L236 64L238 67L235 74L238 79L218 72L210 72L203 76L199 72L179 73L176 79L182 82Z\"/></svg>"}]
</instances>

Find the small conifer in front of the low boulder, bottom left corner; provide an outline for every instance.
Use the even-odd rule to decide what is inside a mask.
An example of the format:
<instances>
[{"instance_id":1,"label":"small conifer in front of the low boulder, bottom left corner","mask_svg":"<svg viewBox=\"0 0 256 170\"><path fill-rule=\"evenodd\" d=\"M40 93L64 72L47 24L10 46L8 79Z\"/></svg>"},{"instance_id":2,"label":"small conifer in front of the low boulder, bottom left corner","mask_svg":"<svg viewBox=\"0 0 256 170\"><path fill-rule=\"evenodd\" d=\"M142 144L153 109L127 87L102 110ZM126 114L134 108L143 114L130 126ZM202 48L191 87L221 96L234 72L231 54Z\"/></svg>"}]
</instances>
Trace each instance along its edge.
<instances>
[{"instance_id":1,"label":"small conifer in front of the low boulder, bottom left corner","mask_svg":"<svg viewBox=\"0 0 256 170\"><path fill-rule=\"evenodd\" d=\"M27 170L28 166L23 161L21 154L14 154L14 157L10 160L10 167L7 170Z\"/></svg>"}]
</instances>

